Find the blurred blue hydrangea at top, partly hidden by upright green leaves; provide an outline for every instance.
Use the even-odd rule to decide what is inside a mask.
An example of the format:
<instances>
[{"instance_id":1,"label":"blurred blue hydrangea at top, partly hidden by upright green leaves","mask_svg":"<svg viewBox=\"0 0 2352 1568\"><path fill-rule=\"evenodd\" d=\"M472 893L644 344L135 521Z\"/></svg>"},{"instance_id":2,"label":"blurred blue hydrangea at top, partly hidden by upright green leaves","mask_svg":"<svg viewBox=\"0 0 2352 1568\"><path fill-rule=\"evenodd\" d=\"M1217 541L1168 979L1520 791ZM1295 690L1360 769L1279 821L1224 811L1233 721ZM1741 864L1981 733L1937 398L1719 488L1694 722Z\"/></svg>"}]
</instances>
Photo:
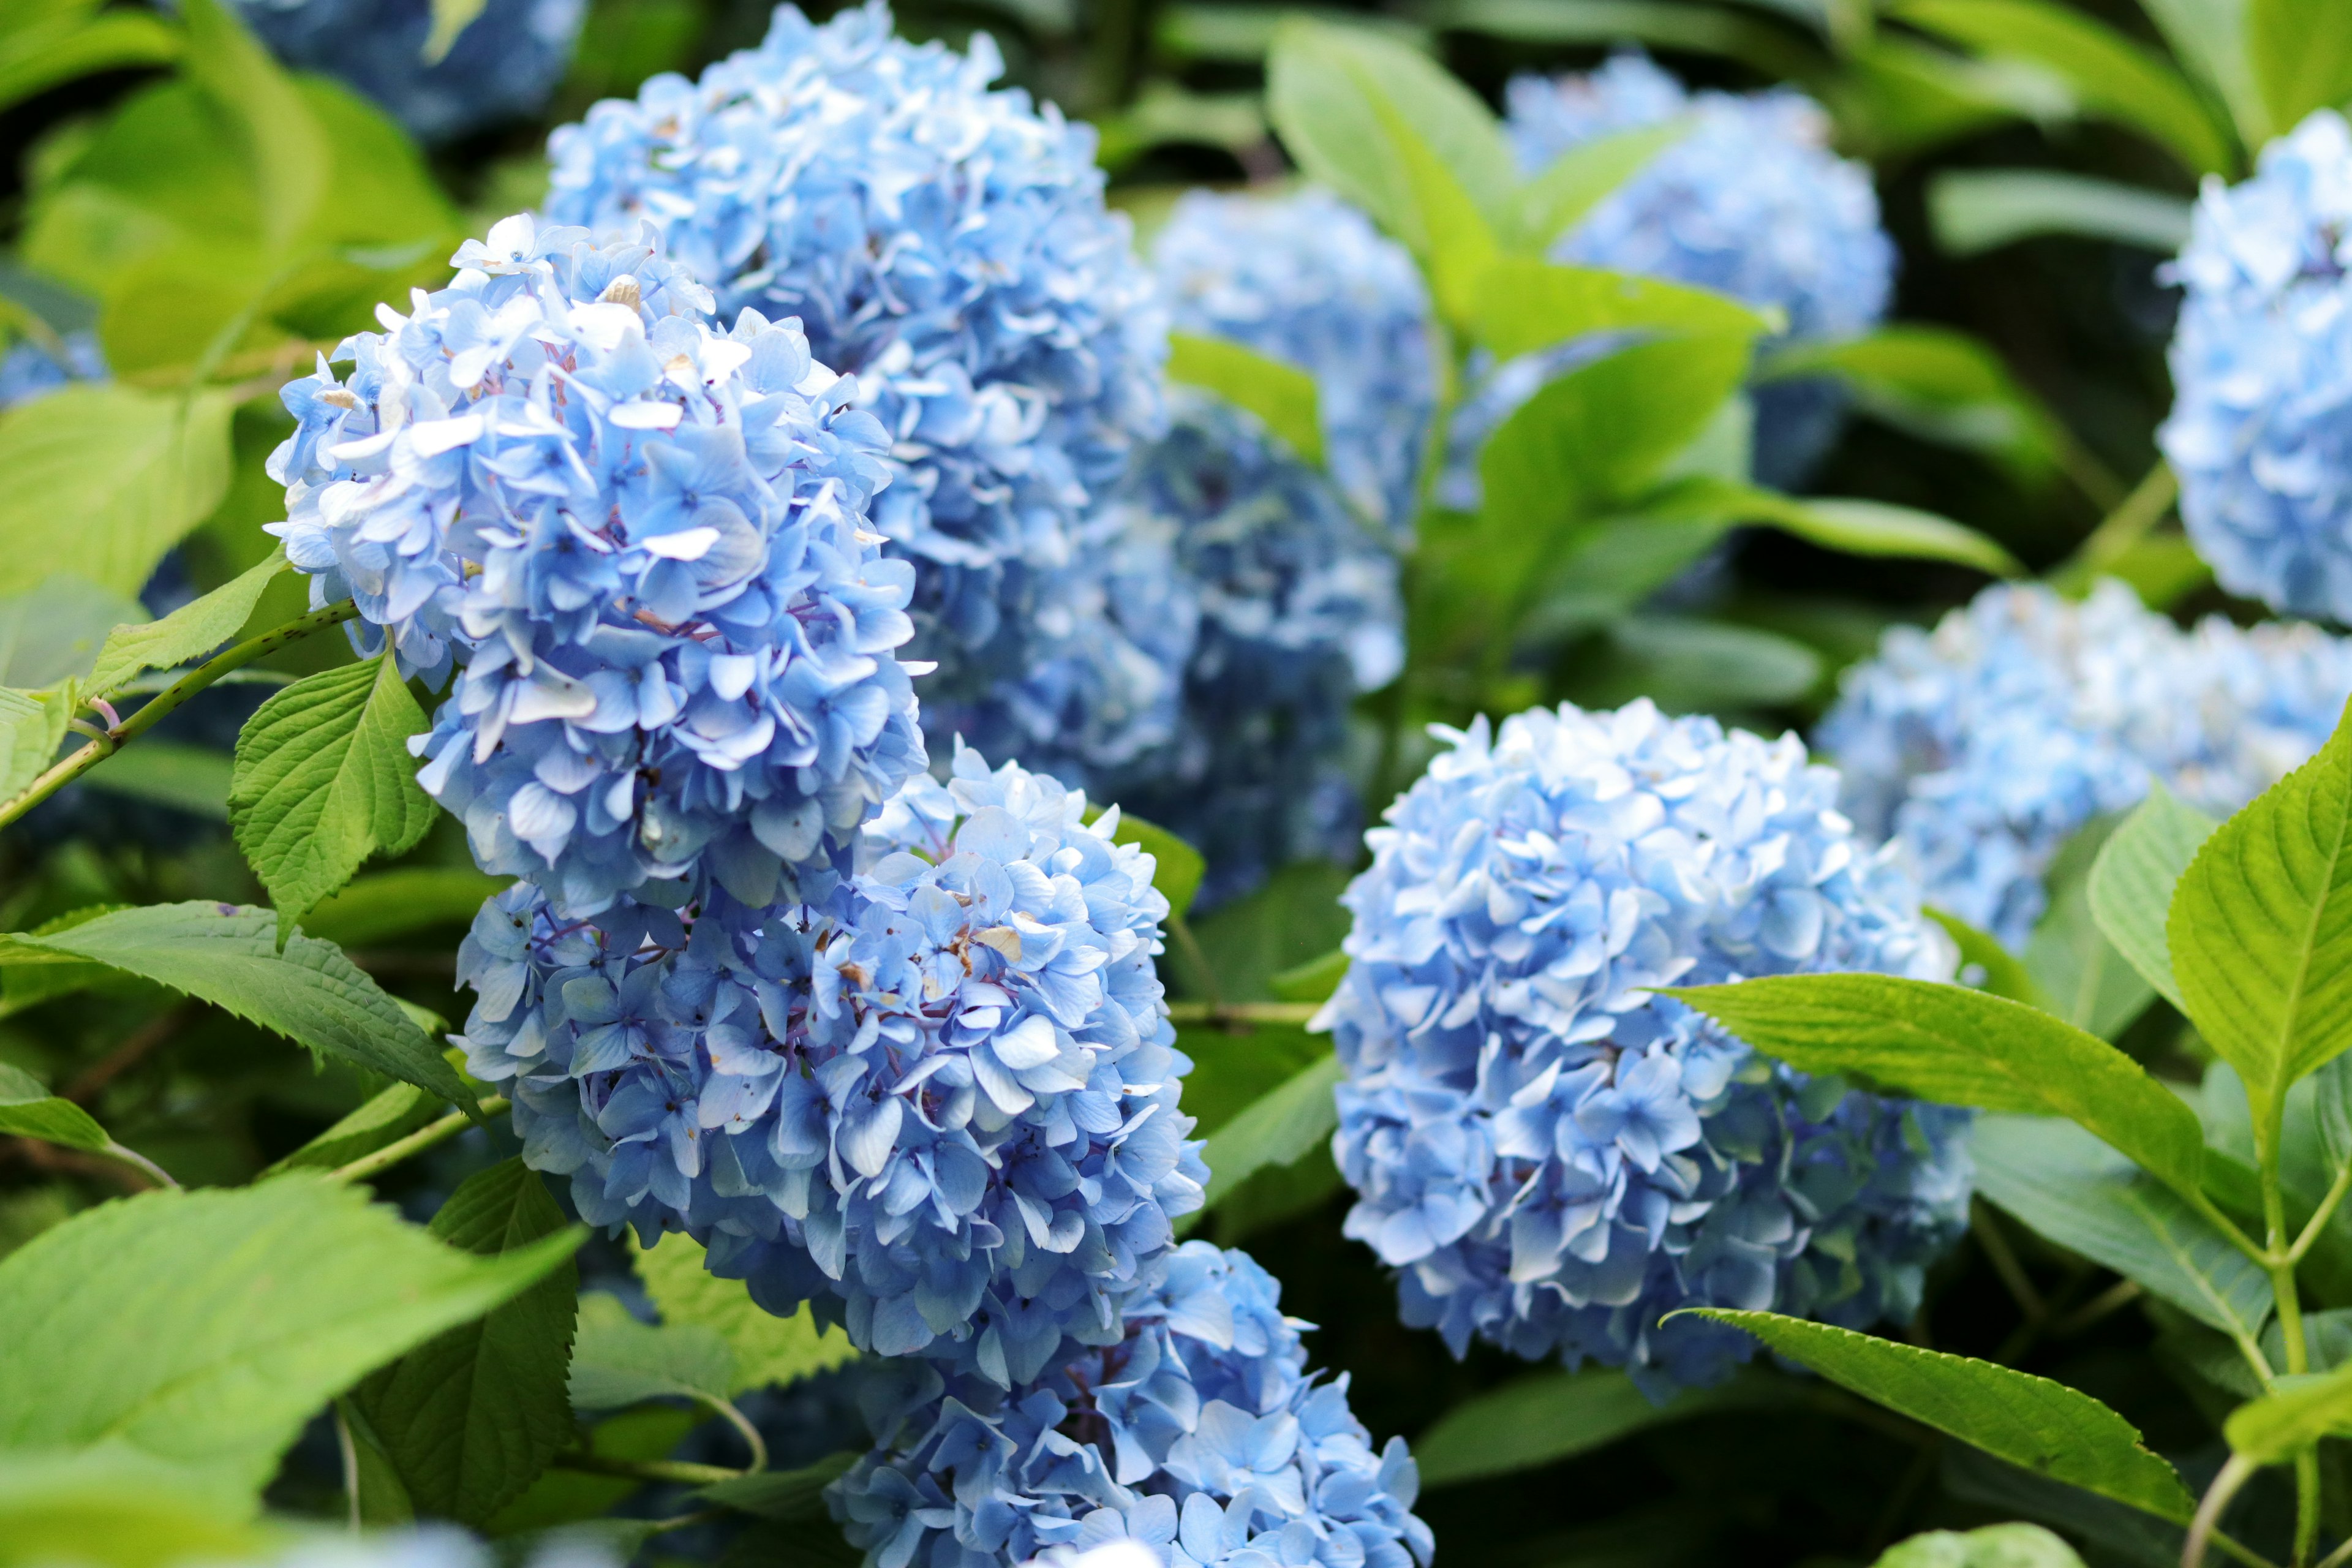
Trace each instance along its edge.
<instances>
[{"instance_id":1,"label":"blurred blue hydrangea at top, partly hidden by upright green leaves","mask_svg":"<svg viewBox=\"0 0 2352 1568\"><path fill-rule=\"evenodd\" d=\"M1588 75L1522 75L1505 134L1536 174L1597 136L1686 120L1689 134L1611 190L1555 247L1555 261L1717 289L1788 313L1783 341L1870 331L1893 294L1896 247L1879 228L1870 169L1830 150L1830 122L1799 92L1689 92L1644 54ZM1449 430L1446 503L1477 503L1477 447L1538 386L1590 357L1571 343L1498 367ZM1755 388L1755 473L1792 489L1837 440L1842 400L1818 378Z\"/></svg>"}]
</instances>

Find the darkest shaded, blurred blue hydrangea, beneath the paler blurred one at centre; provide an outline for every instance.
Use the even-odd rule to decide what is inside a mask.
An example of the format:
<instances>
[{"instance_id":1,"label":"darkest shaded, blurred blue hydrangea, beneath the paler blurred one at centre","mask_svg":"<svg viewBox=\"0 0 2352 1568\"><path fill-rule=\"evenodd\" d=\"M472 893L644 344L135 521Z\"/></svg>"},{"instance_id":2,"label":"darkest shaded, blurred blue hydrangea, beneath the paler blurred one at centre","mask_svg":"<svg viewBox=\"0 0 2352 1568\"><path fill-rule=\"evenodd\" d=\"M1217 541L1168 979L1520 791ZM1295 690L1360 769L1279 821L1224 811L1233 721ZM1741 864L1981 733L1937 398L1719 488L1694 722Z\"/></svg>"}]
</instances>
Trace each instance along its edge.
<instances>
[{"instance_id":1,"label":"darkest shaded, blurred blue hydrangea, beneath the paler blurred one at centre","mask_svg":"<svg viewBox=\"0 0 2352 1568\"><path fill-rule=\"evenodd\" d=\"M1348 708L1404 665L1404 609L1395 557L1322 473L1225 402L1174 409L1127 501L1174 527L1200 599L1183 724L1103 788L1207 856L1214 907L1291 860L1352 858Z\"/></svg>"}]
</instances>

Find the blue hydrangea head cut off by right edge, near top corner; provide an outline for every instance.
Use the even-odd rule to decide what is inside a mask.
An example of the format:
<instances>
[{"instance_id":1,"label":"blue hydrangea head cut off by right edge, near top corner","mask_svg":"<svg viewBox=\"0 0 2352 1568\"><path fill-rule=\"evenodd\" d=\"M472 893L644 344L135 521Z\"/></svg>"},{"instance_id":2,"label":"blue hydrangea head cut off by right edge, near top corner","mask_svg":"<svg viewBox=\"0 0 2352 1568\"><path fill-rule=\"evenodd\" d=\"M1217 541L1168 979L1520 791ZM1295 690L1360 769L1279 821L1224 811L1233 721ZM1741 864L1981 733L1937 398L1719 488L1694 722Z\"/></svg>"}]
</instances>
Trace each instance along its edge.
<instances>
[{"instance_id":1,"label":"blue hydrangea head cut off by right edge, near top corner","mask_svg":"<svg viewBox=\"0 0 2352 1568\"><path fill-rule=\"evenodd\" d=\"M2157 440L2213 576L2352 621L2352 127L2331 108L2206 179L2183 287L2173 411Z\"/></svg>"}]
</instances>

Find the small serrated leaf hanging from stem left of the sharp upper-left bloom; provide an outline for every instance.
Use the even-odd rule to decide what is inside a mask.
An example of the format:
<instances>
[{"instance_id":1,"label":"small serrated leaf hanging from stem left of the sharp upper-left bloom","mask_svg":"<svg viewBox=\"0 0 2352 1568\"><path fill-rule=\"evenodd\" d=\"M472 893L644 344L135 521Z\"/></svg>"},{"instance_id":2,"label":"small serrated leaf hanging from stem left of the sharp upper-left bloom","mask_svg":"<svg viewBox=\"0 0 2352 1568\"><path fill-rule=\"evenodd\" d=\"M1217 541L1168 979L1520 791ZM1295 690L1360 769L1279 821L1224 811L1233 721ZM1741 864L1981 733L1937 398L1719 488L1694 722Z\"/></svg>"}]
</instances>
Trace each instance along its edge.
<instances>
[{"instance_id":1,"label":"small serrated leaf hanging from stem left of the sharp upper-left bloom","mask_svg":"<svg viewBox=\"0 0 2352 1568\"><path fill-rule=\"evenodd\" d=\"M228 820L278 905L278 940L362 860L405 853L433 827L409 759L423 729L390 649L294 682L245 724Z\"/></svg>"}]
</instances>

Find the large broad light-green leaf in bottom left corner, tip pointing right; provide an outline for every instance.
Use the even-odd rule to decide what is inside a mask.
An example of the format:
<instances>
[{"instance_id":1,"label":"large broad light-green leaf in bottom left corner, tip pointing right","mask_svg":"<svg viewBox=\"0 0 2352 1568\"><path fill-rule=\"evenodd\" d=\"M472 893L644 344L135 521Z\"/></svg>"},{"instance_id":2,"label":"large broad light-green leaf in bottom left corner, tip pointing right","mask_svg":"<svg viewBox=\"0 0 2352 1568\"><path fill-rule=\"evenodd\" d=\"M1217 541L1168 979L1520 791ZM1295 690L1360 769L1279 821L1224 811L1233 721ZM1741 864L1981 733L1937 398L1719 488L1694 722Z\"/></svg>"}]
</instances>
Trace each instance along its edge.
<instances>
[{"instance_id":1,"label":"large broad light-green leaf in bottom left corner, tip pointing right","mask_svg":"<svg viewBox=\"0 0 2352 1568\"><path fill-rule=\"evenodd\" d=\"M470 1258L310 1175L101 1204L0 1260L0 1450L136 1450L252 1497L329 1396L579 1241Z\"/></svg>"}]
</instances>

